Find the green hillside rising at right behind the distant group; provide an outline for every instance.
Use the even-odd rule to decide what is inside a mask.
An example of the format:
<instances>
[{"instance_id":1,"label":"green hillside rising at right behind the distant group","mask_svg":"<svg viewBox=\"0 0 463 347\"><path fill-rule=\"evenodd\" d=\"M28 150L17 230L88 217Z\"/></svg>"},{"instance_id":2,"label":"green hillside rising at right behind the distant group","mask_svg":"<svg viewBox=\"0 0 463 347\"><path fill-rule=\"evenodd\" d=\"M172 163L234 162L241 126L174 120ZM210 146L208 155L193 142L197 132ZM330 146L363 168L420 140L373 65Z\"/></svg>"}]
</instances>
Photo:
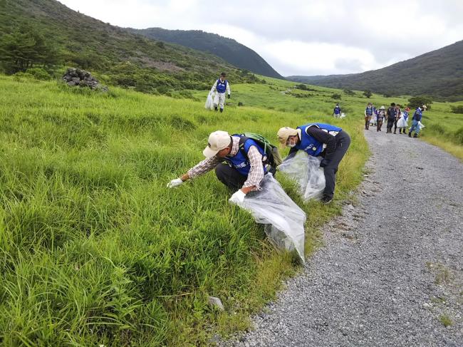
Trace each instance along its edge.
<instances>
[{"instance_id":1,"label":"green hillside rising at right behind the distant group","mask_svg":"<svg viewBox=\"0 0 463 347\"><path fill-rule=\"evenodd\" d=\"M289 76L291 81L387 95L463 98L463 41L379 70L350 75Z\"/></svg>"}]
</instances>

